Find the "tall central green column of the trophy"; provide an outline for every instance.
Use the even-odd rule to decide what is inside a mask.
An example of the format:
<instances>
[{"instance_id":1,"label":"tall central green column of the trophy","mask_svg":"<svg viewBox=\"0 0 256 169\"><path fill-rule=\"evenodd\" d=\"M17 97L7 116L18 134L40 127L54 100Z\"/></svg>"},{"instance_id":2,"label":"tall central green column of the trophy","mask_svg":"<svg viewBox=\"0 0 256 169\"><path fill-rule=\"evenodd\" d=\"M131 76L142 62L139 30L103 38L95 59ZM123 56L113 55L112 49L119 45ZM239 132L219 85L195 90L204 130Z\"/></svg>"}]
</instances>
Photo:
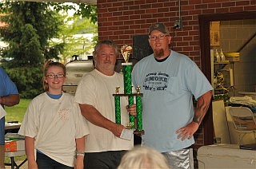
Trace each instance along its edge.
<instances>
[{"instance_id":1,"label":"tall central green column of the trophy","mask_svg":"<svg viewBox=\"0 0 256 169\"><path fill-rule=\"evenodd\" d=\"M123 67L123 83L125 94L132 94L132 83L131 83L131 67L132 63L122 63ZM128 96L128 104L134 104L134 96ZM134 128L134 116L130 115L130 127Z\"/></svg>"}]
</instances>

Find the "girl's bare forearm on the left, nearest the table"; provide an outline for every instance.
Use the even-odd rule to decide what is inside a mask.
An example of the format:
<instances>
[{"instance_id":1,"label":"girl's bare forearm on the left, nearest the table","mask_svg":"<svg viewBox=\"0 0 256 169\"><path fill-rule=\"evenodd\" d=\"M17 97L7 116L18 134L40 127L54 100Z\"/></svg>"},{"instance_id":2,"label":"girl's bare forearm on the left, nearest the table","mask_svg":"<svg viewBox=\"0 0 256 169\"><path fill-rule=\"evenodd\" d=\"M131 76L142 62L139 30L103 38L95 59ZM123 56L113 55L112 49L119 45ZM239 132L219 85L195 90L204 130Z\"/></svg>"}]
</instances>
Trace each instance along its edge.
<instances>
[{"instance_id":1,"label":"girl's bare forearm on the left, nearest the table","mask_svg":"<svg viewBox=\"0 0 256 169\"><path fill-rule=\"evenodd\" d=\"M25 150L28 161L28 169L37 169L38 164L36 163L34 156L34 138L28 136L25 137Z\"/></svg>"}]
</instances>

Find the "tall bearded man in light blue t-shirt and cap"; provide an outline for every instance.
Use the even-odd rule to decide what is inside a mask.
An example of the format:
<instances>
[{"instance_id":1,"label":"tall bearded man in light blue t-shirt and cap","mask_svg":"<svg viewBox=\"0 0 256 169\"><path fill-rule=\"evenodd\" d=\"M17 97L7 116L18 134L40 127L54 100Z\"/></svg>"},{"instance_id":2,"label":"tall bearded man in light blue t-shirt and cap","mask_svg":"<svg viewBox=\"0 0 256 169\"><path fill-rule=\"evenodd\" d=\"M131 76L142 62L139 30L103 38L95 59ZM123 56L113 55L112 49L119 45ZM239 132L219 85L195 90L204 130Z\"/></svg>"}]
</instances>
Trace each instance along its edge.
<instances>
[{"instance_id":1,"label":"tall bearded man in light blue t-shirt and cap","mask_svg":"<svg viewBox=\"0 0 256 169\"><path fill-rule=\"evenodd\" d=\"M171 168L194 168L194 132L210 105L212 87L189 57L169 48L170 33L162 23L150 26L154 53L134 65L134 87L143 93L142 144L154 147ZM193 96L198 100L194 110Z\"/></svg>"}]
</instances>

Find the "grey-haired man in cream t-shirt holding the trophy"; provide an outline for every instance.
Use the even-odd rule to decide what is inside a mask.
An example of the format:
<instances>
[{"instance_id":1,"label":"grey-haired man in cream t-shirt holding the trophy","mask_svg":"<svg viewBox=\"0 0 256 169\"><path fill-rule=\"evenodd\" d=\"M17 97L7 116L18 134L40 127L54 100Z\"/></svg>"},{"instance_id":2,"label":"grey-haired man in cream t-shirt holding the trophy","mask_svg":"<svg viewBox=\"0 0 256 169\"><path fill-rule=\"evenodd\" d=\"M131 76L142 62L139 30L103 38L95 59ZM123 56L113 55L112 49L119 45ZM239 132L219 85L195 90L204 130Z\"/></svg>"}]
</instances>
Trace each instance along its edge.
<instances>
[{"instance_id":1,"label":"grey-haired man in cream t-shirt holding the trophy","mask_svg":"<svg viewBox=\"0 0 256 169\"><path fill-rule=\"evenodd\" d=\"M100 41L94 47L95 69L80 81L75 101L86 117L90 135L86 137L86 168L117 168L122 155L134 146L131 140L121 139L122 130L129 124L129 112L136 113L136 106L128 104L126 97L121 97L121 124L115 123L114 96L120 86L123 92L122 74L114 72L118 56L118 46L114 41Z\"/></svg>"}]
</instances>

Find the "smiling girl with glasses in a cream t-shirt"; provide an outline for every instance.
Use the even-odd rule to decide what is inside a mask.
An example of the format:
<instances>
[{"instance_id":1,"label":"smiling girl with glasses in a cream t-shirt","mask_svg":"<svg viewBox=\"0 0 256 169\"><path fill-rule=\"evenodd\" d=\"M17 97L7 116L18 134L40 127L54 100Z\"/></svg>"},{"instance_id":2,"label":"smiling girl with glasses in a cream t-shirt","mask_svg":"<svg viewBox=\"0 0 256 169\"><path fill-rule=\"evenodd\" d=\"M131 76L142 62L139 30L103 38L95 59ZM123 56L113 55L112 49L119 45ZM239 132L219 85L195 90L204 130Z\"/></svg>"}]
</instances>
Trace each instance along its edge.
<instances>
[{"instance_id":1,"label":"smiling girl with glasses in a cream t-shirt","mask_svg":"<svg viewBox=\"0 0 256 169\"><path fill-rule=\"evenodd\" d=\"M86 121L74 96L62 92L66 67L49 61L43 85L26 110L19 134L25 137L28 168L83 168Z\"/></svg>"}]
</instances>

